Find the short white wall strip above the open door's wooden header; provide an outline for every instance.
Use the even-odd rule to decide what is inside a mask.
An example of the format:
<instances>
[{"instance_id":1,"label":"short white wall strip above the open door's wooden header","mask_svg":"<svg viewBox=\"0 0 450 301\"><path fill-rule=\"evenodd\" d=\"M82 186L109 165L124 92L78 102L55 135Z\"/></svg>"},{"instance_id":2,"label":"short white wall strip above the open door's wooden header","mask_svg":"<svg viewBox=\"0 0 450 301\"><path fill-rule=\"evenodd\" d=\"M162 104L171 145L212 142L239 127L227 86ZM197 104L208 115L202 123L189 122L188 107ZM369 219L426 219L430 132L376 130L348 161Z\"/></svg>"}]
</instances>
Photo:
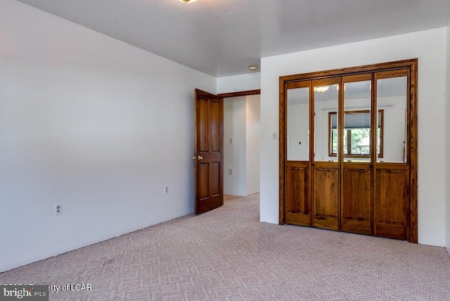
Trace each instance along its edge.
<instances>
[{"instance_id":1,"label":"short white wall strip above the open door's wooden header","mask_svg":"<svg viewBox=\"0 0 450 301\"><path fill-rule=\"evenodd\" d=\"M217 93L231 93L240 91L257 90L261 87L261 75L252 72L245 75L233 75L219 77L217 79Z\"/></svg>"}]
</instances>

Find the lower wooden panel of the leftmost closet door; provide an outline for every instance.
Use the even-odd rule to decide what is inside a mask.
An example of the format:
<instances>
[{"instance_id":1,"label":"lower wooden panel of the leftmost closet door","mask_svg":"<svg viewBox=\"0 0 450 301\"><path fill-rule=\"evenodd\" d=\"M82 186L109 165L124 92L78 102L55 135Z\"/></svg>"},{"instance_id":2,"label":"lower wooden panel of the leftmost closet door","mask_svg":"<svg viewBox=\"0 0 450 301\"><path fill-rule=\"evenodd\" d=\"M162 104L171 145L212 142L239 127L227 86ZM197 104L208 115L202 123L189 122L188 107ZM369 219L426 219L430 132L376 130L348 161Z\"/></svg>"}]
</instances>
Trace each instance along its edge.
<instances>
[{"instance_id":1,"label":"lower wooden panel of the leftmost closet door","mask_svg":"<svg viewBox=\"0 0 450 301\"><path fill-rule=\"evenodd\" d=\"M300 166L288 166L286 171L285 222L310 226L309 163L295 165Z\"/></svg>"}]
</instances>

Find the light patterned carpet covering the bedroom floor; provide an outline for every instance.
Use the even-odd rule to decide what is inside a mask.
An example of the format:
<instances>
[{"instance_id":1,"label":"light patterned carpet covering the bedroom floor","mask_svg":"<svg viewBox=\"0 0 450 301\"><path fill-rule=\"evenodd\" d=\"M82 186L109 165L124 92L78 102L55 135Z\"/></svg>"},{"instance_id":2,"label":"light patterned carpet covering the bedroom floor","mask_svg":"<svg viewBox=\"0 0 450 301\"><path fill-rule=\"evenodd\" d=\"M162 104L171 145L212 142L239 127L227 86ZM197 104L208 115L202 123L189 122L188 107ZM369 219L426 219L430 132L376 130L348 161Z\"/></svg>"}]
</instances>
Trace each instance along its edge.
<instances>
[{"instance_id":1,"label":"light patterned carpet covering the bedroom floor","mask_svg":"<svg viewBox=\"0 0 450 301\"><path fill-rule=\"evenodd\" d=\"M444 248L259 222L259 195L0 274L50 300L450 300Z\"/></svg>"}]
</instances>

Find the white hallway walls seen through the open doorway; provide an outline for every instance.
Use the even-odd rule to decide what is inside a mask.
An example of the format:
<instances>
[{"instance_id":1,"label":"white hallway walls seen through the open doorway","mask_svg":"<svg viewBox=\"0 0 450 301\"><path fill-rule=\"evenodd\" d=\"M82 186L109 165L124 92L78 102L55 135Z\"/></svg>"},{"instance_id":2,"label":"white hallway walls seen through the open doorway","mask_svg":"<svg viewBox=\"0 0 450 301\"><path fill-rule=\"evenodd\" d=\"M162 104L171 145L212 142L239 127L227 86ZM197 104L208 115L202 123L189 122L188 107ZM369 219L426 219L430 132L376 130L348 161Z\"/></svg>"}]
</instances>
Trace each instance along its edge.
<instances>
[{"instance_id":1,"label":"white hallway walls seen through the open doorway","mask_svg":"<svg viewBox=\"0 0 450 301\"><path fill-rule=\"evenodd\" d=\"M225 194L249 196L259 192L259 103L259 95L224 100Z\"/></svg>"}]
</instances>

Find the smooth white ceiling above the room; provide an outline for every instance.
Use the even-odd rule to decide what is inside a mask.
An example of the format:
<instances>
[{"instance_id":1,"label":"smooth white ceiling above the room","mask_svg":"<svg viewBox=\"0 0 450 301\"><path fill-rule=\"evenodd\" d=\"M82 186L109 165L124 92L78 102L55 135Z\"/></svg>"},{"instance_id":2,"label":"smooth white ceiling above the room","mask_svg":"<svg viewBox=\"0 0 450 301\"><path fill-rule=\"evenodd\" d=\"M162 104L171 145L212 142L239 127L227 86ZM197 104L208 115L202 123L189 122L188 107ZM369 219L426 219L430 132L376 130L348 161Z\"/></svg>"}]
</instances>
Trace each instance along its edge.
<instances>
[{"instance_id":1,"label":"smooth white ceiling above the room","mask_svg":"<svg viewBox=\"0 0 450 301\"><path fill-rule=\"evenodd\" d=\"M214 77L266 56L444 27L450 0L20 0Z\"/></svg>"}]
</instances>

